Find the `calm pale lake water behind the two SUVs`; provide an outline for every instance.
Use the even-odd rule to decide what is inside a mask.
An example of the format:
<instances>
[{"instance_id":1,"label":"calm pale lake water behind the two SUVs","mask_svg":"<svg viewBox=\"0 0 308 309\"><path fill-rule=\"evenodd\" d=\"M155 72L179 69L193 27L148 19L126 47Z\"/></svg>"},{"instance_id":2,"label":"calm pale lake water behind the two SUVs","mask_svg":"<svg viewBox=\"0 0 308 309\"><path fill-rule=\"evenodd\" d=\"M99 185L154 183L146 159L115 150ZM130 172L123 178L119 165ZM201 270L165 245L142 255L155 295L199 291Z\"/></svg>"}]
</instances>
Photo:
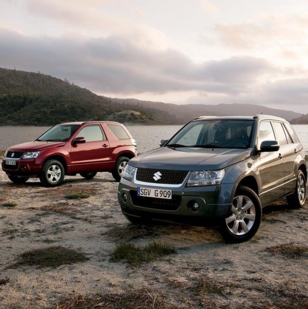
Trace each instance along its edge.
<instances>
[{"instance_id":1,"label":"calm pale lake water behind the two SUVs","mask_svg":"<svg viewBox=\"0 0 308 309\"><path fill-rule=\"evenodd\" d=\"M137 141L138 152L158 148L161 139L174 135L182 125L127 125L127 129ZM47 131L50 126L0 126L0 150L26 141L32 141ZM293 125L295 132L308 154L308 125Z\"/></svg>"}]
</instances>

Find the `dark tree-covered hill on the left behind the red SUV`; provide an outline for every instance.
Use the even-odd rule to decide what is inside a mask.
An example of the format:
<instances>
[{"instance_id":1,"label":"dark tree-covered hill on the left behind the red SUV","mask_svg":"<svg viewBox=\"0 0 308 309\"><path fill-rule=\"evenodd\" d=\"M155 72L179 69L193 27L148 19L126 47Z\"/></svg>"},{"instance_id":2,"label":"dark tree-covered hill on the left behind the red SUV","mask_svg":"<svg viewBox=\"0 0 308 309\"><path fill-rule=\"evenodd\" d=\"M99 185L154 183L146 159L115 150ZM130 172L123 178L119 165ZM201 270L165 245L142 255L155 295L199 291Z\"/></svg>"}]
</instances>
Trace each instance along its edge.
<instances>
[{"instance_id":1,"label":"dark tree-covered hill on the left behind the red SUV","mask_svg":"<svg viewBox=\"0 0 308 309\"><path fill-rule=\"evenodd\" d=\"M125 110L127 115L123 114ZM175 115L156 108L132 108L131 104L114 102L40 72L0 68L1 125L52 125L66 121L107 120L108 117L138 124L183 123Z\"/></svg>"}]
</instances>

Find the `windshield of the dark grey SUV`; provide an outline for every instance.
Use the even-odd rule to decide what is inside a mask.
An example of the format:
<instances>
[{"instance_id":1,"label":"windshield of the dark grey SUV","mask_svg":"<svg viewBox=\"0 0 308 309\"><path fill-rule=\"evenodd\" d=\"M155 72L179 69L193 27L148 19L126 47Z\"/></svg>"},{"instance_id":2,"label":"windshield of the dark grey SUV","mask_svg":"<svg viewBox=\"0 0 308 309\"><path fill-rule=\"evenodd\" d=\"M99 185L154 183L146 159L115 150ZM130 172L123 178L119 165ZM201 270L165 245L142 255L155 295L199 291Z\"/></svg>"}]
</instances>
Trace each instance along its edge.
<instances>
[{"instance_id":1,"label":"windshield of the dark grey SUV","mask_svg":"<svg viewBox=\"0 0 308 309\"><path fill-rule=\"evenodd\" d=\"M253 120L191 121L166 146L246 149L251 142L252 125Z\"/></svg>"}]
</instances>

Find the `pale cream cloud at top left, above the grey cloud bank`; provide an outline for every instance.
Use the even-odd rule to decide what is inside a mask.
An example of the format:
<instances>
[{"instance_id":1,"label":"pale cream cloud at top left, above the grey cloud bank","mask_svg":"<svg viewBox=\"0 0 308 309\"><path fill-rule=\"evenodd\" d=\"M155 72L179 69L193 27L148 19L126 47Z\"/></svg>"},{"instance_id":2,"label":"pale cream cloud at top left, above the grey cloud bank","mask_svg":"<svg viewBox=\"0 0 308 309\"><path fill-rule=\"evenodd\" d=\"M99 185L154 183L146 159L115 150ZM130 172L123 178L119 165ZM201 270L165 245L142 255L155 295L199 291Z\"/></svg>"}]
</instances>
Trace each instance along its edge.
<instances>
[{"instance_id":1,"label":"pale cream cloud at top left, above the grey cloud bank","mask_svg":"<svg viewBox=\"0 0 308 309\"><path fill-rule=\"evenodd\" d=\"M119 1L119 0L118 0ZM44 17L56 24L63 24L67 31L87 33L92 37L117 35L129 37L134 44L143 48L164 49L167 38L162 31L145 24L127 21L121 15L111 14L105 9L110 1L99 0L29 0L28 11L35 16ZM113 1L115 5L117 1ZM129 1L119 1L119 6L141 14Z\"/></svg>"}]
</instances>

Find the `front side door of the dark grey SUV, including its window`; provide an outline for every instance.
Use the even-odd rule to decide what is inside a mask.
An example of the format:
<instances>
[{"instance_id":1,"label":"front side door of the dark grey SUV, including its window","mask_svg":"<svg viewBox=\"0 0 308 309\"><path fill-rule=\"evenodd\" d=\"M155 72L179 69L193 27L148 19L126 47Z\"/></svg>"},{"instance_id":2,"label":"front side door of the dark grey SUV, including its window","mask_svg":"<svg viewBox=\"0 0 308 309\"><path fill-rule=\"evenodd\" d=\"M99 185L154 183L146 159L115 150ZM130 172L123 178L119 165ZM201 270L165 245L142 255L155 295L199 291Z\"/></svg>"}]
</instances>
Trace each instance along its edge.
<instances>
[{"instance_id":1,"label":"front side door of the dark grey SUV, including its window","mask_svg":"<svg viewBox=\"0 0 308 309\"><path fill-rule=\"evenodd\" d=\"M258 144L264 140L276 140L271 121L262 121L259 125ZM261 179L260 197L266 205L284 195L284 158L280 149L273 152L261 152L259 156Z\"/></svg>"}]
</instances>

